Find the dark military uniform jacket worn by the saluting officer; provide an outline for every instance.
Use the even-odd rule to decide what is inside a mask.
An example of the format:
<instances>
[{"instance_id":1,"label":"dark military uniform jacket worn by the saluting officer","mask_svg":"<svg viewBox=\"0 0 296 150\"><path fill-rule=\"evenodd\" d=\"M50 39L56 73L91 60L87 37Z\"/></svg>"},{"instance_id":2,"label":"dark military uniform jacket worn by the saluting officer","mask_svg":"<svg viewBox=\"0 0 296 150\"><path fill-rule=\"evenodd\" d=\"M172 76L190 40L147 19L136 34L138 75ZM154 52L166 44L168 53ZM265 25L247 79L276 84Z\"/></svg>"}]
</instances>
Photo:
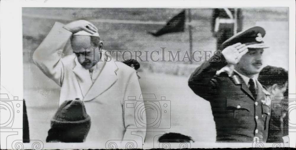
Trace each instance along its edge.
<instances>
[{"instance_id":1,"label":"dark military uniform jacket worn by the saluting officer","mask_svg":"<svg viewBox=\"0 0 296 150\"><path fill-rule=\"evenodd\" d=\"M267 96L263 87L256 82L257 99L254 99L238 74L234 73L236 78L229 77L226 72L216 75L218 70L226 66L223 55L220 62L216 58L213 56L210 62L204 62L188 81L194 93L211 104L217 131L216 141L265 142L270 107L261 102Z\"/></svg>"}]
</instances>

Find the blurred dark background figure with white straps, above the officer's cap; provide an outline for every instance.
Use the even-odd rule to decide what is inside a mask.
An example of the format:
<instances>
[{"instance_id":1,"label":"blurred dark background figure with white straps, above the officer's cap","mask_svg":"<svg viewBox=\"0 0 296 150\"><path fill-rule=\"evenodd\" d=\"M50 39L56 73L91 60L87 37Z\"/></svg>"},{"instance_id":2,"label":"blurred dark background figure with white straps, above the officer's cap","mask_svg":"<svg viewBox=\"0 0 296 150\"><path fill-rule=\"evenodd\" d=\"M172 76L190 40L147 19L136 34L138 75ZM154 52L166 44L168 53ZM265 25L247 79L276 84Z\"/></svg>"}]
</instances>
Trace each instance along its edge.
<instances>
[{"instance_id":1,"label":"blurred dark background figure with white straps, above the officer's cap","mask_svg":"<svg viewBox=\"0 0 296 150\"><path fill-rule=\"evenodd\" d=\"M242 31L242 11L240 8L215 8L212 16L211 31L217 39L217 50L221 50L224 41Z\"/></svg>"}]
</instances>

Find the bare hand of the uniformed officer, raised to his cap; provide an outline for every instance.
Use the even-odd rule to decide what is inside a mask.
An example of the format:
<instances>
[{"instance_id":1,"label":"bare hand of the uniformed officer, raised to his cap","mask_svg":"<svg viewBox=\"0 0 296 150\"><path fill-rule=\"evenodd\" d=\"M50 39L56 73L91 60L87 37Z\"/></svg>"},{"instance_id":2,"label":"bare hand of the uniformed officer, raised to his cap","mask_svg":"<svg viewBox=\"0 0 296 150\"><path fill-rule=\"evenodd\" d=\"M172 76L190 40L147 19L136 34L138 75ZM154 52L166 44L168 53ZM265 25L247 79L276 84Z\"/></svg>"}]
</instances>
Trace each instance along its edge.
<instances>
[{"instance_id":1,"label":"bare hand of the uniformed officer, raised to his cap","mask_svg":"<svg viewBox=\"0 0 296 150\"><path fill-rule=\"evenodd\" d=\"M242 43L236 43L226 47L221 53L228 64L237 64L242 56L248 52L248 47Z\"/></svg>"}]
</instances>

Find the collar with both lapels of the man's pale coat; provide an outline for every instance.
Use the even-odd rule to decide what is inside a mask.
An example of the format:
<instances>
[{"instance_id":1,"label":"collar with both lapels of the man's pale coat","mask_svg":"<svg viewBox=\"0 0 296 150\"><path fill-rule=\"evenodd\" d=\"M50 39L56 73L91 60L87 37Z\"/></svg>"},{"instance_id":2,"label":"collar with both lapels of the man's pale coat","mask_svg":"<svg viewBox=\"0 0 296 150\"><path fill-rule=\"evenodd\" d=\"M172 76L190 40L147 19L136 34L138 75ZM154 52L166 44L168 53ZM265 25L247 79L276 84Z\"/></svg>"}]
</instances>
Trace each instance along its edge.
<instances>
[{"instance_id":1,"label":"collar with both lapels of the man's pale coat","mask_svg":"<svg viewBox=\"0 0 296 150\"><path fill-rule=\"evenodd\" d=\"M83 101L93 100L95 97L107 91L107 89L109 89L115 81L117 81L117 65L114 60L110 58L111 55L107 55L106 51L103 50L102 54L104 54L108 60L94 83L92 83L89 69L84 69L78 62L77 58L74 58L75 66L73 68L73 72L75 73L79 83L79 87L83 95Z\"/></svg>"}]
</instances>

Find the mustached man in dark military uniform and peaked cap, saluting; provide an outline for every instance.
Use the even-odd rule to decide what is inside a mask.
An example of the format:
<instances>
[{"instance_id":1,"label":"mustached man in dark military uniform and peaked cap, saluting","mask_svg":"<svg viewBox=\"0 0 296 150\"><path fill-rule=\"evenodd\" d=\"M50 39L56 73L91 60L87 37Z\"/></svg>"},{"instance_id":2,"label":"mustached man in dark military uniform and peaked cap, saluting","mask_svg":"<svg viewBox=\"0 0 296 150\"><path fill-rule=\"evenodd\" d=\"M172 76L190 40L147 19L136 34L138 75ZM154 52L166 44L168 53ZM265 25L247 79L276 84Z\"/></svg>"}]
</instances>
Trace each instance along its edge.
<instances>
[{"instance_id":1,"label":"mustached man in dark military uniform and peaked cap, saluting","mask_svg":"<svg viewBox=\"0 0 296 150\"><path fill-rule=\"evenodd\" d=\"M190 76L189 87L211 103L217 142L264 142L270 108L255 75L262 66L265 30L252 27L222 44L223 51ZM216 53L217 54L217 53ZM217 59L219 58L219 59Z\"/></svg>"}]
</instances>

